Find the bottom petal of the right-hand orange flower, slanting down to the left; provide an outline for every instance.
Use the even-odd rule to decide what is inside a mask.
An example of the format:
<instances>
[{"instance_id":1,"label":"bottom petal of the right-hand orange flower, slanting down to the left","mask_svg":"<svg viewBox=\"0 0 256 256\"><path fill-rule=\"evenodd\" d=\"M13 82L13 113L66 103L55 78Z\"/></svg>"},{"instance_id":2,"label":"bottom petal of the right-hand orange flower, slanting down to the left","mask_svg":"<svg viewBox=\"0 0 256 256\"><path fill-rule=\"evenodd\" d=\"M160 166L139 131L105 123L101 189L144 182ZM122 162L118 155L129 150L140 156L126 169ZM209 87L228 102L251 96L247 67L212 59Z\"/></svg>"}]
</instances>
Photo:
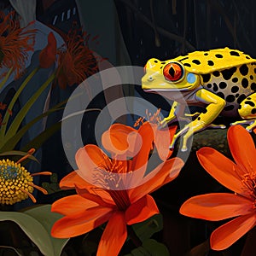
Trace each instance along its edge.
<instances>
[{"instance_id":1,"label":"bottom petal of the right-hand orange flower, slanting down to the left","mask_svg":"<svg viewBox=\"0 0 256 256\"><path fill-rule=\"evenodd\" d=\"M220 226L217 230L212 232L210 243L213 250L224 250L230 247L241 236L245 235L248 230L253 229L256 223L256 215L247 214L235 218Z\"/></svg>"}]
</instances>

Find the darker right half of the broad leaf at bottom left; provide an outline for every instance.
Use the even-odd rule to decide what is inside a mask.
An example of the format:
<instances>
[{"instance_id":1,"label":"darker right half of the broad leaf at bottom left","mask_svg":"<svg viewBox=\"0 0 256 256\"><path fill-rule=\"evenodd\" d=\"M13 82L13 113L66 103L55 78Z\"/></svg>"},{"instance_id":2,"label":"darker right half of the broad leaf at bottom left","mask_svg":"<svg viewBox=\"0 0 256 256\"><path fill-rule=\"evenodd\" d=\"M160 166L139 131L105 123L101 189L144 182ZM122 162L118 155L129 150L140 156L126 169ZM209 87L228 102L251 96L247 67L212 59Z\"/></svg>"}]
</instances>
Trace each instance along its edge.
<instances>
[{"instance_id":1,"label":"darker right half of the broad leaf at bottom left","mask_svg":"<svg viewBox=\"0 0 256 256\"><path fill-rule=\"evenodd\" d=\"M65 247L65 245L67 244L68 239L58 239L50 235L52 225L55 224L55 222L62 217L62 215L59 213L50 212L50 208L50 205L34 207L24 213L34 219L37 219L38 222L44 226L44 229L49 234L49 239L53 247L53 253L51 255L59 256L61 255L63 247ZM40 234L38 234L38 236L40 236ZM46 255L48 254L46 253Z\"/></svg>"}]
</instances>

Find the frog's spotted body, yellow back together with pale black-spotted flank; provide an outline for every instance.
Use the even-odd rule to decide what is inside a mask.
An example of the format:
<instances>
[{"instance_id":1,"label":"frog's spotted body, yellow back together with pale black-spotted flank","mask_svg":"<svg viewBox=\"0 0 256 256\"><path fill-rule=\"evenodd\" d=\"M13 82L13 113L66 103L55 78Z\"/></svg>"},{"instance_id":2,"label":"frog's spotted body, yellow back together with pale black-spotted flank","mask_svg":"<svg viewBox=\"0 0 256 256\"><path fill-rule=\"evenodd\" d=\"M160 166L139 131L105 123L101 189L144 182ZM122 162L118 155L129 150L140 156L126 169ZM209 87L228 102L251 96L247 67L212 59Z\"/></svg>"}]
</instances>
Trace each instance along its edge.
<instances>
[{"instance_id":1,"label":"frog's spotted body, yellow back together with pale black-spotted flank","mask_svg":"<svg viewBox=\"0 0 256 256\"><path fill-rule=\"evenodd\" d=\"M176 58L201 85L226 102L223 115L237 116L240 103L256 91L256 60L237 49L195 51Z\"/></svg>"}]
</instances>

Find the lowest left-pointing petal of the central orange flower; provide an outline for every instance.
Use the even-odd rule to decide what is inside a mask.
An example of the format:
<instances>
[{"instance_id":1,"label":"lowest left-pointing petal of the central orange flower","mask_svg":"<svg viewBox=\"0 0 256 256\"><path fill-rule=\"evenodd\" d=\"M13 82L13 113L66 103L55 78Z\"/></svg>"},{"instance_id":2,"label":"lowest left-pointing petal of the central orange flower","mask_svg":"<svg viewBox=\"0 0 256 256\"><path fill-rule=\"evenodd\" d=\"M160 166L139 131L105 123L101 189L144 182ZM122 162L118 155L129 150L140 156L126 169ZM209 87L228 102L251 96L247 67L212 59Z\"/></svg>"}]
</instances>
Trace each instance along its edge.
<instances>
[{"instance_id":1,"label":"lowest left-pointing petal of the central orange flower","mask_svg":"<svg viewBox=\"0 0 256 256\"><path fill-rule=\"evenodd\" d=\"M57 220L52 227L51 235L57 238L82 235L108 221L112 214L112 208L90 208L84 212Z\"/></svg>"}]
</instances>

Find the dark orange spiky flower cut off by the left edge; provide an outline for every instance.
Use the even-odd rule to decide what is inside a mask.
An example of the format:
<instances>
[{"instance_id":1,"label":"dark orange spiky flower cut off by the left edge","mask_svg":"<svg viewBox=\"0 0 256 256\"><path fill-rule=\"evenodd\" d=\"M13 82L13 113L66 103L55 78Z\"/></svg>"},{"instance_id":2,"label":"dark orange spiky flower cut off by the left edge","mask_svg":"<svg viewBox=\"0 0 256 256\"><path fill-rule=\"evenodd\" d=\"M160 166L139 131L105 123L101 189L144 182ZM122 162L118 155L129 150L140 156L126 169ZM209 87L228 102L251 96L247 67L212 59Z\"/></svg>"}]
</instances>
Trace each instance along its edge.
<instances>
[{"instance_id":1,"label":"dark orange spiky flower cut off by the left edge","mask_svg":"<svg viewBox=\"0 0 256 256\"><path fill-rule=\"evenodd\" d=\"M14 15L15 12L0 13L0 68L13 68L15 79L18 79L25 69L27 52L33 50L36 30L20 28L19 23L12 19Z\"/></svg>"}]
</instances>

